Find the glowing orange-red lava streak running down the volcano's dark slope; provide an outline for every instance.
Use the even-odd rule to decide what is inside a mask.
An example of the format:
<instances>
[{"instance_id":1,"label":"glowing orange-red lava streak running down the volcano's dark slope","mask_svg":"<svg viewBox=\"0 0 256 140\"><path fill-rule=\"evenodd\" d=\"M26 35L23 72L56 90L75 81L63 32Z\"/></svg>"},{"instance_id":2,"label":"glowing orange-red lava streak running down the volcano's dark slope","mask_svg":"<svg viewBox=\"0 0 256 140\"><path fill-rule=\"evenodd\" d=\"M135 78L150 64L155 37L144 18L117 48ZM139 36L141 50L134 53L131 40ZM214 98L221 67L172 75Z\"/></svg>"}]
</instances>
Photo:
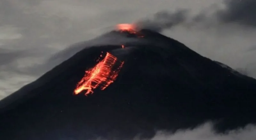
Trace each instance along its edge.
<instances>
[{"instance_id":1,"label":"glowing orange-red lava streak running down the volcano's dark slope","mask_svg":"<svg viewBox=\"0 0 256 140\"><path fill-rule=\"evenodd\" d=\"M87 90L85 95L92 94L93 89L98 87L104 90L116 80L123 64L124 62L118 63L114 55L107 53L95 67L85 71L84 77L77 83L74 94L79 94L83 90Z\"/></svg>"}]
</instances>

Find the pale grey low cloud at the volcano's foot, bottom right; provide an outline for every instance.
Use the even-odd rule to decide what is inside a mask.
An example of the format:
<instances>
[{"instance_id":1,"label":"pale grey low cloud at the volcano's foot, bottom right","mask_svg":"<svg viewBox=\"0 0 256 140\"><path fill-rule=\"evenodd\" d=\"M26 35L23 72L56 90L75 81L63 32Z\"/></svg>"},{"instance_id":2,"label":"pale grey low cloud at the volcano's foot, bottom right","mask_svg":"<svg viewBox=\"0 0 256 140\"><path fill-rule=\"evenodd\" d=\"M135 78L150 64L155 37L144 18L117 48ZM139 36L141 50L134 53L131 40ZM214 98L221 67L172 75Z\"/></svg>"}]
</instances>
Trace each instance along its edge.
<instances>
[{"instance_id":1,"label":"pale grey low cloud at the volcano's foot, bottom right","mask_svg":"<svg viewBox=\"0 0 256 140\"><path fill-rule=\"evenodd\" d=\"M218 134L213 131L211 123L206 123L195 129L178 130L173 134L158 131L150 140L254 140L255 137L256 126L254 125L248 125L245 128L231 130L225 134ZM135 138L134 140L140 139Z\"/></svg>"}]
</instances>

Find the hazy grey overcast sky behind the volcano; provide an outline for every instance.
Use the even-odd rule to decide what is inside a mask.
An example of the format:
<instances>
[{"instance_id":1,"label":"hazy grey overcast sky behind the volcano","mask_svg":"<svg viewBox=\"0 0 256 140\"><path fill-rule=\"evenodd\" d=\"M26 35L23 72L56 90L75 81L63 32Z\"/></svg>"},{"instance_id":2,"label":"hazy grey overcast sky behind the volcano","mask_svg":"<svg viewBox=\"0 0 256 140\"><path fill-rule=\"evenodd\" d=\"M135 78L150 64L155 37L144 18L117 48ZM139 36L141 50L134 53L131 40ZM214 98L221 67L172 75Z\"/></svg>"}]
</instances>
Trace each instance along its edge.
<instances>
[{"instance_id":1,"label":"hazy grey overcast sky behind the volcano","mask_svg":"<svg viewBox=\"0 0 256 140\"><path fill-rule=\"evenodd\" d=\"M163 33L203 56L256 77L254 0L1 0L0 99L34 81L37 67L69 45L118 23L187 9L188 22ZM253 11L254 10L254 11ZM195 20L195 22L189 22ZM253 73L254 72L254 73ZM31 73L31 74L30 74Z\"/></svg>"}]
</instances>

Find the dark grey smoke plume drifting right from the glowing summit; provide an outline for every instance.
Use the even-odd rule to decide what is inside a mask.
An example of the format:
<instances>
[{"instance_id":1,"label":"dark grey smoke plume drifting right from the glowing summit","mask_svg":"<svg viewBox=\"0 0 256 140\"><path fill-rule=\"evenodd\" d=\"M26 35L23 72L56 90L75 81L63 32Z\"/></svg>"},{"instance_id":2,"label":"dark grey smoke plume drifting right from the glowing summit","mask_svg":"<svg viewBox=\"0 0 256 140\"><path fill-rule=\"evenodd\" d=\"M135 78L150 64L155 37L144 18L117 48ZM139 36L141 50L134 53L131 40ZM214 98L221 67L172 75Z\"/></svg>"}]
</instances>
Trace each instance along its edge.
<instances>
[{"instance_id":1,"label":"dark grey smoke plume drifting right from the glowing summit","mask_svg":"<svg viewBox=\"0 0 256 140\"><path fill-rule=\"evenodd\" d=\"M183 24L195 25L207 20L216 20L220 23L236 23L243 26L256 27L255 0L224 0L226 8L217 10L211 16L206 16L207 10L189 20L189 10L180 9L175 12L160 11L153 18L142 19L136 24L139 29L150 29L161 32L164 29Z\"/></svg>"}]
</instances>

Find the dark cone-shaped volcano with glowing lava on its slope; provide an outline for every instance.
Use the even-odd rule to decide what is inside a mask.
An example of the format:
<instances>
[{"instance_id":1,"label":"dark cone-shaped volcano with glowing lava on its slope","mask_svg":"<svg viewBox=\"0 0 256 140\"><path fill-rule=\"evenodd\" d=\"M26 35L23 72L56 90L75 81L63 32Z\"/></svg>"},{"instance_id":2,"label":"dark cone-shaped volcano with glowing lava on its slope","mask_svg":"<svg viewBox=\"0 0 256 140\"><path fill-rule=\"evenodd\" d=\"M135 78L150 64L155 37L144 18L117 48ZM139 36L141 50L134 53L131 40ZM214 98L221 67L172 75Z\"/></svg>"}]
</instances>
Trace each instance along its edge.
<instances>
[{"instance_id":1,"label":"dark cone-shaped volcano with glowing lava on its slope","mask_svg":"<svg viewBox=\"0 0 256 140\"><path fill-rule=\"evenodd\" d=\"M116 44L80 44L71 58L0 101L1 140L125 140L207 121L217 133L255 123L255 79L158 32L104 36ZM102 77L111 82L101 84ZM88 86L93 82L105 87Z\"/></svg>"}]
</instances>

